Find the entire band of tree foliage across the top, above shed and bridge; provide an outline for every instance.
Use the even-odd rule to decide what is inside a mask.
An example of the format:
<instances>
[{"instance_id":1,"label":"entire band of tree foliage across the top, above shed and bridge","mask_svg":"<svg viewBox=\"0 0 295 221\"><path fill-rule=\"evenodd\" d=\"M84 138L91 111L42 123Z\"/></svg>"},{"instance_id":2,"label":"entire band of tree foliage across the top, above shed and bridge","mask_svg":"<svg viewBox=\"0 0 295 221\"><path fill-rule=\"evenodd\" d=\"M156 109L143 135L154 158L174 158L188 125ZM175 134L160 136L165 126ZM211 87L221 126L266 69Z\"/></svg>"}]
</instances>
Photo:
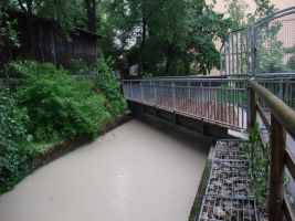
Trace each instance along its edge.
<instances>
[{"instance_id":1,"label":"entire band of tree foliage across the top, above shed and bridge","mask_svg":"<svg viewBox=\"0 0 295 221\"><path fill-rule=\"evenodd\" d=\"M65 32L78 27L98 33L103 53L127 55L140 75L183 75L218 67L214 42L274 10L270 0L255 2L255 13L245 14L242 0L228 0L228 19L206 0L2 0L0 7L29 20L33 14L54 20Z\"/></svg>"}]
</instances>

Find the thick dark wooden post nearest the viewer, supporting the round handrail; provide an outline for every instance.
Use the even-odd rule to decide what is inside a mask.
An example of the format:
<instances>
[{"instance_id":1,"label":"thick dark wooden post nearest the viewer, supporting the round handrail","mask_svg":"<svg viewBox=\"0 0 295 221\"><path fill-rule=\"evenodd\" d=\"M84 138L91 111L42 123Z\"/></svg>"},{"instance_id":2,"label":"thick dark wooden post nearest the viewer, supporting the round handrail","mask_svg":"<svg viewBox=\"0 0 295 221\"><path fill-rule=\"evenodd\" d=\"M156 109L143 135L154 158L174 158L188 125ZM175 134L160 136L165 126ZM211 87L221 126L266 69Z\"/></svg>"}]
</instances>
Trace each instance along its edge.
<instances>
[{"instance_id":1,"label":"thick dark wooden post nearest the viewer, supporting the round handrail","mask_svg":"<svg viewBox=\"0 0 295 221\"><path fill-rule=\"evenodd\" d=\"M272 114L268 220L283 220L286 130Z\"/></svg>"}]
</instances>

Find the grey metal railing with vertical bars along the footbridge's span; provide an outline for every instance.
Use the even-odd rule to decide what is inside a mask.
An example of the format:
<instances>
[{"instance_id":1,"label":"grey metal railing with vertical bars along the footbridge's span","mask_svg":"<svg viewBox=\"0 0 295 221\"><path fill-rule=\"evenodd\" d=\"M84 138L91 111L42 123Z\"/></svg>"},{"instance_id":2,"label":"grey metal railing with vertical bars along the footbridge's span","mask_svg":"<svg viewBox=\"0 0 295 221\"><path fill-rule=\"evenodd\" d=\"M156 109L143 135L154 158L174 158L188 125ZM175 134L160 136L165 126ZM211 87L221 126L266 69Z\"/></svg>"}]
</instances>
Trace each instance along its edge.
<instances>
[{"instance_id":1,"label":"grey metal railing with vertical bars along the footbridge's span","mask_svg":"<svg viewBox=\"0 0 295 221\"><path fill-rule=\"evenodd\" d=\"M244 80L124 81L127 99L208 120L232 129L247 126Z\"/></svg>"}]
</instances>

